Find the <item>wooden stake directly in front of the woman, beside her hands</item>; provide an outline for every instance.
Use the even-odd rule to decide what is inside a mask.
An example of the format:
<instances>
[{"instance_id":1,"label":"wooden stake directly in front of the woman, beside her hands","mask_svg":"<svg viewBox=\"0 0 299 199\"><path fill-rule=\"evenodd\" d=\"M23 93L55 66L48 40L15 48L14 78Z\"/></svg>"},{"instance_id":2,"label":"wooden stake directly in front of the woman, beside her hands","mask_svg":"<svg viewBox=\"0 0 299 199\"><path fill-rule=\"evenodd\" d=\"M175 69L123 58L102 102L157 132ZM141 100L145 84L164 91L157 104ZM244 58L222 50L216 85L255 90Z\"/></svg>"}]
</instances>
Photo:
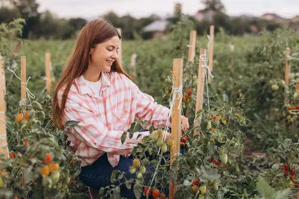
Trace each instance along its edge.
<instances>
[{"instance_id":1,"label":"wooden stake directly in front of the woman, beside her hands","mask_svg":"<svg viewBox=\"0 0 299 199\"><path fill-rule=\"evenodd\" d=\"M174 87L178 88L180 84L183 82L183 59L173 59L173 81L174 81ZM178 98L178 95L175 96ZM171 112L171 138L174 141L174 145L171 149L170 152L170 158L172 161L175 160L175 154L179 153L180 149L180 137L181 137L181 130L180 130L180 125L181 125L181 110L182 106L180 104L180 100L177 99L174 101L174 105L172 107L172 112ZM172 168L172 161L171 161L171 166L170 169ZM175 185L176 181L170 182L169 183L169 199L174 198L175 194Z\"/></svg>"}]
</instances>

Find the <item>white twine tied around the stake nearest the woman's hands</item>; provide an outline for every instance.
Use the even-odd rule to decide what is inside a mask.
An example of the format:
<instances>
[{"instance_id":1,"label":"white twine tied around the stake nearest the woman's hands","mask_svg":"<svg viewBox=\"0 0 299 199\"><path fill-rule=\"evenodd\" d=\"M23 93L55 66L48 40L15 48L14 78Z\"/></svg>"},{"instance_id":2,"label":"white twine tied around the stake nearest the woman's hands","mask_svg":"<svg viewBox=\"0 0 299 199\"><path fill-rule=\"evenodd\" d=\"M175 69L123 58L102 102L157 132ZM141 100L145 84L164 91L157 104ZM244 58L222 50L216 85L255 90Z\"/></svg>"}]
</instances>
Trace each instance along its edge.
<instances>
[{"instance_id":1,"label":"white twine tied around the stake nearest the woman's hands","mask_svg":"<svg viewBox=\"0 0 299 199\"><path fill-rule=\"evenodd\" d=\"M167 118L167 122L166 122L166 126L165 126L165 129L166 129L166 130L167 130L168 127L169 127L170 117L171 117L171 112L172 112L172 108L173 108L173 105L174 105L174 101L175 101L175 100L179 100L179 105L178 105L178 107L177 107L177 109L179 109L179 107L180 107L180 103L181 103L181 101L182 101L182 97L183 97L183 85L180 84L178 88L175 88L175 86L174 86L174 82L173 82L172 78L171 78L170 76L168 76L168 79L169 79L170 82L172 83L172 91L171 91L171 94L173 93L173 95L172 95L172 100L171 100L171 94L170 94L170 98L169 98L169 100L170 100L170 102L169 102L170 110L169 110L169 114L168 114L168 118ZM177 96L177 97L176 97L176 96ZM166 130L164 131L163 136L162 136L162 140L163 140L164 142L165 142L165 140L166 140L166 136L165 136L165 134L166 134L165 132L167 132ZM157 163L157 166L156 166L156 169L155 169L155 171L154 171L154 174L153 174L153 177L152 177L152 180L151 180L151 182L150 182L149 187L152 186L152 183L153 183L153 181L154 181L155 178L156 178L156 175L157 175L157 172L158 172L158 166L160 165L161 160L162 160L163 152L161 151L161 147L159 147L159 150L158 150L158 153L157 153L157 154L159 154L160 156L159 156L159 160L158 160L158 163ZM177 154L179 154L179 153L176 153L175 155L177 155Z\"/></svg>"}]
</instances>

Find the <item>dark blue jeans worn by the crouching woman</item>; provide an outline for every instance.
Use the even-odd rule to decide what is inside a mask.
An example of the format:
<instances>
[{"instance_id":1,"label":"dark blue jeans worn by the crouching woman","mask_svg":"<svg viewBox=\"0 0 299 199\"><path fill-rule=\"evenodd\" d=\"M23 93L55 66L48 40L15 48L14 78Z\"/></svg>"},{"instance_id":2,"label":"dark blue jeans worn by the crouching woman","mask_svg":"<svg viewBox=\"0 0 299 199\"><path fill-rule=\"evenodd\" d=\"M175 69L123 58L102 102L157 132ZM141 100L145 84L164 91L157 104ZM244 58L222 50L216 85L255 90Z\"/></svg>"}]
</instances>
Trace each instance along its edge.
<instances>
[{"instance_id":1,"label":"dark blue jeans worn by the crouching woman","mask_svg":"<svg viewBox=\"0 0 299 199\"><path fill-rule=\"evenodd\" d=\"M141 131L147 131L147 130L140 130ZM184 154L184 148L181 147L180 153ZM163 155L169 155L169 152ZM147 157L149 157L150 160L156 157L149 156L147 154ZM129 172L129 168L133 165L133 155L131 155L129 158L125 158L120 156L119 164L115 167L112 167L111 164L108 161L107 154L103 154L98 160L96 160L92 165L88 165L85 167L81 167L81 173L79 175L80 180L88 187L94 188L94 189L100 189L102 187L110 186L112 183L110 181L111 174L114 170L119 170L121 172L126 172L125 177L127 180L130 178L136 179L136 173L131 174ZM161 165L163 165L163 161L161 162ZM147 172L145 177L145 182L149 182L149 178L152 176L154 172L154 168L152 168L152 165L149 165L146 168ZM148 177L147 177L148 176ZM120 180L122 183L125 182L125 179ZM129 199L135 199L134 190L132 188L129 190L125 185L121 186L121 197L129 198ZM168 189L166 188L166 191L168 192ZM168 193L165 193L168 195ZM145 196L142 195L142 199L146 199ZM149 199L151 199L149 197Z\"/></svg>"}]
</instances>

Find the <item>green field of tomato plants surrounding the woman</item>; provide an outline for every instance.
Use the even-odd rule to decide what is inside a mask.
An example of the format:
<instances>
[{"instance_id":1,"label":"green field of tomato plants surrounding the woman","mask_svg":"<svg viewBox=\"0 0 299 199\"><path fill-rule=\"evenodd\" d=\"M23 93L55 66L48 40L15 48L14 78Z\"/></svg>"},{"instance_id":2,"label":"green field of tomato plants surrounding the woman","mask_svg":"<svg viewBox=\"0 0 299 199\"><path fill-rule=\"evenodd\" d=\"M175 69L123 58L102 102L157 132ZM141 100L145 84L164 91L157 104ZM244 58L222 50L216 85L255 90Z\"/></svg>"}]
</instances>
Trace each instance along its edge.
<instances>
[{"instance_id":1,"label":"green field of tomato plants surrounding the woman","mask_svg":"<svg viewBox=\"0 0 299 199\"><path fill-rule=\"evenodd\" d=\"M186 135L185 155L179 155L167 170L160 169L154 198L168 197L163 188L176 179L174 198L196 199L286 199L296 198L299 191L298 114L299 61L287 59L291 66L290 83L286 85L286 49L291 56L299 52L299 35L289 29L255 36L229 36L221 30L215 34L211 83L204 86L203 108L195 117L197 75L200 48L207 49L206 36L196 38L194 63L188 63L190 22L182 19L173 27L169 40L122 41L123 66L132 74L131 55L136 53L136 73L132 80L140 90L157 103L169 107L173 59L183 59L182 109L191 128ZM15 31L15 30L11 30ZM74 40L24 41L15 58L11 52L16 38L0 34L0 50L4 68L20 74L20 56L26 56L26 76L31 77L27 88L35 99L21 100L20 81L5 70L6 131L9 159L2 159L0 168L6 175L0 178L0 196L7 199L24 197L88 198L87 187L78 179L80 160L73 151L66 151L66 136L51 122L51 94L45 91L45 53L51 53L52 75L59 81L70 55ZM234 44L234 50L230 50ZM15 64L16 65L15 65ZM188 65L188 66L187 66ZM208 86L208 95L206 86ZM52 90L54 84L52 84ZM209 100L208 100L209 99ZM28 112L29 119L25 118ZM21 113L19 121L15 117ZM141 128L136 120L130 133ZM195 125L197 124L197 125ZM69 122L65 128L76 125ZM193 135L196 128L200 135ZM151 127L152 129L152 127ZM149 164L146 152L158 154L160 146L171 150L171 144L159 143L160 137L148 136L135 147L133 154L141 165ZM161 140L162 141L162 140ZM136 151L140 153L136 153ZM164 157L170 164L170 157ZM56 164L55 164L56 163ZM55 166L54 166L55 165ZM120 186L134 189L140 198L149 184L139 164L133 165L136 179L126 179L117 171L111 181L121 182L106 188L107 196L119 198ZM26 182L22 184L23 179ZM104 192L103 190L101 190Z\"/></svg>"}]
</instances>

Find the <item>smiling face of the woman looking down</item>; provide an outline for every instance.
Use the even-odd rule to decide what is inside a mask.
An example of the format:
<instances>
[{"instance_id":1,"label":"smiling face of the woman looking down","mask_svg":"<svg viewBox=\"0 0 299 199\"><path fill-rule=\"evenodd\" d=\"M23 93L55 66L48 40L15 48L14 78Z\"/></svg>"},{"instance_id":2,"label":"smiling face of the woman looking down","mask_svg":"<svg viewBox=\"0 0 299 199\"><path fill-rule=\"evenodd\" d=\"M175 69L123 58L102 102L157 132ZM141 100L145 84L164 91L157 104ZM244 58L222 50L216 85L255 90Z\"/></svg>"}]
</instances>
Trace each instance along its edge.
<instances>
[{"instance_id":1,"label":"smiling face of the woman looking down","mask_svg":"<svg viewBox=\"0 0 299 199\"><path fill-rule=\"evenodd\" d=\"M120 38L113 36L104 43L96 45L90 51L91 58L89 60L88 68L91 68L93 72L109 72L111 70L112 63L118 59L118 48L120 44Z\"/></svg>"}]
</instances>

